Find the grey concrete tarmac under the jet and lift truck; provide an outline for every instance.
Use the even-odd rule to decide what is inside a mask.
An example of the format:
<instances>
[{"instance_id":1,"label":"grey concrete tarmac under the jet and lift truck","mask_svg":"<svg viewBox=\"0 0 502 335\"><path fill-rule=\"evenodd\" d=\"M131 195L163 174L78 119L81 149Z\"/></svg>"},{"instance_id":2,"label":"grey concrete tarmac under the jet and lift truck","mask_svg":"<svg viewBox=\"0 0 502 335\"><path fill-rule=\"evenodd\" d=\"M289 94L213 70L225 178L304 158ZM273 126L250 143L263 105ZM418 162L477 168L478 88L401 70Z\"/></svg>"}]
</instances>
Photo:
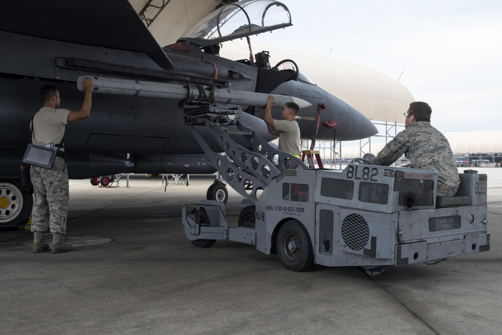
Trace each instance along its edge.
<instances>
[{"instance_id":1,"label":"grey concrete tarmac under the jet and lift truck","mask_svg":"<svg viewBox=\"0 0 502 335\"><path fill-rule=\"evenodd\" d=\"M463 169L459 169L463 170ZM3 334L499 334L502 320L502 169L488 174L491 250L390 267L316 265L287 271L277 255L185 237L181 205L205 199L211 176L164 192L142 175L120 187L70 181L66 236L112 238L70 253L0 245ZM227 221L244 207L229 189ZM18 229L0 242L33 239ZM78 245L78 244L75 244Z\"/></svg>"}]
</instances>

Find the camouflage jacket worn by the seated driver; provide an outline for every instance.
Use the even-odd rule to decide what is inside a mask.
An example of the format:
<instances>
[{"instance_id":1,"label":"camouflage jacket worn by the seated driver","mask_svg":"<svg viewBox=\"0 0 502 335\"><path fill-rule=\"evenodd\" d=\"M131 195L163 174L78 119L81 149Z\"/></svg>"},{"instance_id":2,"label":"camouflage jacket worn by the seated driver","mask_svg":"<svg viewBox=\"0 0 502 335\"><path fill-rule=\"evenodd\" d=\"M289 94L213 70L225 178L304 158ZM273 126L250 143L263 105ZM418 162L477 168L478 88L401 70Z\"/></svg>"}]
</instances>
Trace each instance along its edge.
<instances>
[{"instance_id":1,"label":"camouflage jacket worn by the seated driver","mask_svg":"<svg viewBox=\"0 0 502 335\"><path fill-rule=\"evenodd\" d=\"M405 154L415 169L434 169L438 172L437 193L455 193L460 184L458 169L450 143L430 122L411 124L379 152L375 165L389 166Z\"/></svg>"}]
</instances>

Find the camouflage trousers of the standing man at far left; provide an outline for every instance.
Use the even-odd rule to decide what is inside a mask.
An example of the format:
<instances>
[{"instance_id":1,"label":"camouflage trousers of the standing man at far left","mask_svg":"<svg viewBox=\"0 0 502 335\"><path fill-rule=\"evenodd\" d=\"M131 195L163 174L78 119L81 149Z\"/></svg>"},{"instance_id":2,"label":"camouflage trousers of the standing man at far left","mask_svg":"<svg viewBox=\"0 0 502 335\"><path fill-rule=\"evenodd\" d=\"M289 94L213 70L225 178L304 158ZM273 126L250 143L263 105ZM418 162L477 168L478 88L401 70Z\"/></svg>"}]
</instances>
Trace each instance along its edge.
<instances>
[{"instance_id":1,"label":"camouflage trousers of the standing man at far left","mask_svg":"<svg viewBox=\"0 0 502 335\"><path fill-rule=\"evenodd\" d=\"M55 157L52 169L31 165L33 183L33 212L31 231L66 233L69 185L66 162Z\"/></svg>"}]
</instances>

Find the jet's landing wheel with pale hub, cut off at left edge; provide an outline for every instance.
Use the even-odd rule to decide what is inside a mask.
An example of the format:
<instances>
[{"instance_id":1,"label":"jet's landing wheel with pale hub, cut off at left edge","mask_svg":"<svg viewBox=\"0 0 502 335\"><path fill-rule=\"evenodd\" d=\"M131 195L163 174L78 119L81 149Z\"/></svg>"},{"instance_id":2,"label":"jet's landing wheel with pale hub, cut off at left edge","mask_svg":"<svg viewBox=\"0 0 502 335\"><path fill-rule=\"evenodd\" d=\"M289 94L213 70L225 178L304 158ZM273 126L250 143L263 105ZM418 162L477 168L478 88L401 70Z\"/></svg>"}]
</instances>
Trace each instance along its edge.
<instances>
[{"instance_id":1,"label":"jet's landing wheel with pale hub, cut off at left edge","mask_svg":"<svg viewBox=\"0 0 502 335\"><path fill-rule=\"evenodd\" d=\"M0 230L26 224L33 208L33 195L21 192L19 180L0 179Z\"/></svg>"}]
</instances>

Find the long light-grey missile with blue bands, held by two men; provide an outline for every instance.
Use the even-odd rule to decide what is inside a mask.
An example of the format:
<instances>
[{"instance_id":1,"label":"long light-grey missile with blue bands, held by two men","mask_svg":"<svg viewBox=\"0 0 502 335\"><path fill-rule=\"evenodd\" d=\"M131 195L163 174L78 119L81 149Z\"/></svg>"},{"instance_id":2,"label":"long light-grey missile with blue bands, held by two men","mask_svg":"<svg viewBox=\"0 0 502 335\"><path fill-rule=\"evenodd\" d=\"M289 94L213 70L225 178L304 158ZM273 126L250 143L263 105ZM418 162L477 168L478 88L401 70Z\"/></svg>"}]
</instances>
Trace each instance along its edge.
<instances>
[{"instance_id":1,"label":"long light-grey missile with blue bands, held by two men","mask_svg":"<svg viewBox=\"0 0 502 335\"><path fill-rule=\"evenodd\" d=\"M85 91L82 88L81 81L86 76L81 75L77 80L77 87L80 91ZM103 93L103 94L117 94L123 96L135 96L135 97L150 97L150 98L165 98L165 99L176 99L185 100L188 96L189 88L185 85L170 84L165 82L153 82L153 81L140 81L135 79L121 79L121 78L109 78L109 77L92 77L92 87L93 93ZM199 99L199 88L191 85L192 96L190 97L193 101L198 101ZM246 91L233 91L226 89L215 89L214 97L212 97L213 91L205 91L207 99L214 99L214 103L218 104L229 104L229 105L243 105L243 106L266 106L268 101L268 94L256 93L256 92L246 92ZM284 107L288 102L297 103L300 108L309 107L312 104L296 97L289 96L278 96L272 95L274 97L273 107Z\"/></svg>"}]
</instances>

